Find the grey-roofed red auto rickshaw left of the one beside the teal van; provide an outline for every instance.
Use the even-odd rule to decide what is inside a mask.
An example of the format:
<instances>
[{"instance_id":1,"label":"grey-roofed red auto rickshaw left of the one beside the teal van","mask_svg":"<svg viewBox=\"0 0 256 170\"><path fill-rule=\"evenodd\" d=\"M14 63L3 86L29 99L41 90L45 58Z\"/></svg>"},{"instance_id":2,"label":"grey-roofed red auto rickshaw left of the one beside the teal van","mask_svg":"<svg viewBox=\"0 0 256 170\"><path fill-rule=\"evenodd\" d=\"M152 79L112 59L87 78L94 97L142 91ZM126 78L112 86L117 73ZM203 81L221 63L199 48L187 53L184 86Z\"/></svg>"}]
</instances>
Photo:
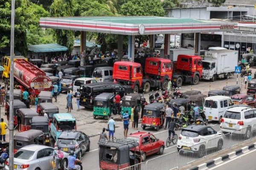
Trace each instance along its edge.
<instances>
[{"instance_id":1,"label":"grey-roofed red auto rickshaw left of the one beside the teal van","mask_svg":"<svg viewBox=\"0 0 256 170\"><path fill-rule=\"evenodd\" d=\"M39 116L39 114L29 108L21 108L17 110L17 117L18 117L18 130L19 132L24 132L26 130L31 129L31 119L34 116Z\"/></svg>"}]
</instances>

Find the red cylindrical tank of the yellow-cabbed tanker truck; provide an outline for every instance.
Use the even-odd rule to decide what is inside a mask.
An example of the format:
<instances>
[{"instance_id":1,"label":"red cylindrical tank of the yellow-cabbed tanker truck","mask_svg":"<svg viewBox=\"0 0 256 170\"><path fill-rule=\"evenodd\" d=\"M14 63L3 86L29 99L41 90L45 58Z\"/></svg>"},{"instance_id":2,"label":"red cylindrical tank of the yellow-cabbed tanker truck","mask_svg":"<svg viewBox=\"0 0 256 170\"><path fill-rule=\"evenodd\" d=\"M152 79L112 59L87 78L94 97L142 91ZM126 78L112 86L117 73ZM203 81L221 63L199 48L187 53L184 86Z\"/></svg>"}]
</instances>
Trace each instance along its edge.
<instances>
[{"instance_id":1,"label":"red cylindrical tank of the yellow-cabbed tanker truck","mask_svg":"<svg viewBox=\"0 0 256 170\"><path fill-rule=\"evenodd\" d=\"M52 81L46 76L45 72L25 59L15 60L14 77L22 91L28 88L31 92L32 87L35 88L36 94L39 94L40 91L52 90Z\"/></svg>"}]
</instances>

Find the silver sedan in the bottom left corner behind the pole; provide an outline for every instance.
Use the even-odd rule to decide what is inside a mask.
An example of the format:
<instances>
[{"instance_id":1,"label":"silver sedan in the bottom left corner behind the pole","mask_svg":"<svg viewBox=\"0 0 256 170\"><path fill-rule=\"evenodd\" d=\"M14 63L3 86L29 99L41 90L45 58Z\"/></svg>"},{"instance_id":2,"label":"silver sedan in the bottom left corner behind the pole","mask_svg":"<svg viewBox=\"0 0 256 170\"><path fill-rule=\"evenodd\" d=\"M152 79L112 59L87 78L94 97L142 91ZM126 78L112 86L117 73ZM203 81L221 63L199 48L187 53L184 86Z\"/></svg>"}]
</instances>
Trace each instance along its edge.
<instances>
[{"instance_id":1,"label":"silver sedan in the bottom left corner behind the pole","mask_svg":"<svg viewBox=\"0 0 256 170\"><path fill-rule=\"evenodd\" d=\"M53 150L52 147L38 144L22 147L14 155L14 169L52 170ZM63 164L66 167L68 153L63 152L63 154ZM5 165L5 170L9 170L9 164Z\"/></svg>"}]
</instances>

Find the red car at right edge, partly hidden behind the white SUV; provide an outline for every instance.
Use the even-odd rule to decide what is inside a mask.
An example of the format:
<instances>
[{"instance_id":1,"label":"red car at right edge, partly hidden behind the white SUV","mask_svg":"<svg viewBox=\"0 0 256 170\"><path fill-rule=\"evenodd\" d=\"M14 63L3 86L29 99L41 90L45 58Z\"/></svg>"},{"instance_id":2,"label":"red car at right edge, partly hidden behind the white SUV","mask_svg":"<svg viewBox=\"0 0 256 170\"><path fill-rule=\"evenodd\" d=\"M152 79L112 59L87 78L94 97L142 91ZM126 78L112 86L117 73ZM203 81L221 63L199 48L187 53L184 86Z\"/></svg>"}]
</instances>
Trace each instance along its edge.
<instances>
[{"instance_id":1,"label":"red car at right edge, partly hidden behind the white SUV","mask_svg":"<svg viewBox=\"0 0 256 170\"><path fill-rule=\"evenodd\" d=\"M231 96L231 99L235 105L244 104L254 107L255 99L247 94L235 94Z\"/></svg>"}]
</instances>

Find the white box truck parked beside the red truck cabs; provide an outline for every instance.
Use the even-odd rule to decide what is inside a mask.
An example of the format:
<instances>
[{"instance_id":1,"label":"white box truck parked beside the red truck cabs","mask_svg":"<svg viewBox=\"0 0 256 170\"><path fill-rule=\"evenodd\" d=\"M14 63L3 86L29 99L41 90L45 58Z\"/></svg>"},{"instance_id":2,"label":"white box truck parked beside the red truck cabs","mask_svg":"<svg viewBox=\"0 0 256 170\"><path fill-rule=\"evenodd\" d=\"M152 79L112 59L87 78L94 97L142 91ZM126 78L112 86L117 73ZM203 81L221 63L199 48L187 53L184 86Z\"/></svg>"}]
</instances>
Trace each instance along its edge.
<instances>
[{"instance_id":1,"label":"white box truck parked beside the red truck cabs","mask_svg":"<svg viewBox=\"0 0 256 170\"><path fill-rule=\"evenodd\" d=\"M217 78L229 79L238 62L238 51L227 49L206 51L202 62L202 79L211 80L212 82Z\"/></svg>"}]
</instances>

